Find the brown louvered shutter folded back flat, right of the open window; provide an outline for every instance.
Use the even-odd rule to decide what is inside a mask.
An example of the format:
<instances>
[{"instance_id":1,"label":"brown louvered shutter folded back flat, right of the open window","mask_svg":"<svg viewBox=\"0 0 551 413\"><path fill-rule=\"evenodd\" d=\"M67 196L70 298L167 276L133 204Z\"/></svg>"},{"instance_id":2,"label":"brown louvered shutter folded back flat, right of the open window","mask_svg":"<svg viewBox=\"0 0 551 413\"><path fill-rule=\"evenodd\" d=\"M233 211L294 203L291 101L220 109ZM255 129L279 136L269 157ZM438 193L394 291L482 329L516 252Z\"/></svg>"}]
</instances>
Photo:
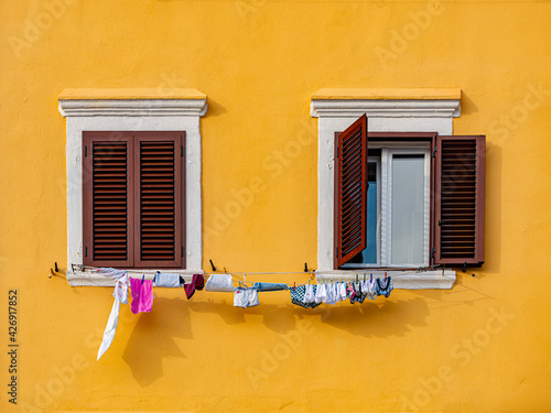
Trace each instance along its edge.
<instances>
[{"instance_id":1,"label":"brown louvered shutter folded back flat, right of the open window","mask_svg":"<svg viewBox=\"0 0 551 413\"><path fill-rule=\"evenodd\" d=\"M435 155L434 262L480 265L486 137L437 137Z\"/></svg>"}]
</instances>

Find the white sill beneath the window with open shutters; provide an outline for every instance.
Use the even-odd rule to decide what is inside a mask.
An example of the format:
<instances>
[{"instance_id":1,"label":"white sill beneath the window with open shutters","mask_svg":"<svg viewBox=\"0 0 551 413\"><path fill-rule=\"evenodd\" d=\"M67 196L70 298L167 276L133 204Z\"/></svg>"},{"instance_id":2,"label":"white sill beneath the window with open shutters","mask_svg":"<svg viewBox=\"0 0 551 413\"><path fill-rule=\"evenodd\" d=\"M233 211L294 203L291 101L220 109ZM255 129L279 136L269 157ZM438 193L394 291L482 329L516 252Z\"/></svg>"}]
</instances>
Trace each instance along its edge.
<instances>
[{"instance_id":1,"label":"white sill beneath the window with open shutters","mask_svg":"<svg viewBox=\"0 0 551 413\"><path fill-rule=\"evenodd\" d=\"M315 273L316 282L327 281L354 281L356 274L358 279L363 279L364 273L374 274L376 278L387 275L392 276L395 289L398 290L451 290L455 284L455 271L453 270L435 270L423 271L419 273L400 275L404 271L381 271L381 270L356 270L356 271L320 271Z\"/></svg>"}]
</instances>

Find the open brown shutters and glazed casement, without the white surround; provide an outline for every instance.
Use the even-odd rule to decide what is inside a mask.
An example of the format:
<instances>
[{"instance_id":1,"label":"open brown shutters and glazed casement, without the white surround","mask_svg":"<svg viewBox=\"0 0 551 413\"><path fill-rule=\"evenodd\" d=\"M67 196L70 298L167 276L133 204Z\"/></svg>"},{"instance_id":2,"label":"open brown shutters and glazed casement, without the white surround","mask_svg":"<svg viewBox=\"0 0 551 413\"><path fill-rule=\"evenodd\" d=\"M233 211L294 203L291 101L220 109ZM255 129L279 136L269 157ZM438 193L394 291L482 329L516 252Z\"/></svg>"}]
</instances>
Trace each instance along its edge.
<instances>
[{"instance_id":1,"label":"open brown shutters and glazed casement, without the white surround","mask_svg":"<svg viewBox=\"0 0 551 413\"><path fill-rule=\"evenodd\" d=\"M367 128L336 133L335 265L480 265L485 137Z\"/></svg>"}]
</instances>

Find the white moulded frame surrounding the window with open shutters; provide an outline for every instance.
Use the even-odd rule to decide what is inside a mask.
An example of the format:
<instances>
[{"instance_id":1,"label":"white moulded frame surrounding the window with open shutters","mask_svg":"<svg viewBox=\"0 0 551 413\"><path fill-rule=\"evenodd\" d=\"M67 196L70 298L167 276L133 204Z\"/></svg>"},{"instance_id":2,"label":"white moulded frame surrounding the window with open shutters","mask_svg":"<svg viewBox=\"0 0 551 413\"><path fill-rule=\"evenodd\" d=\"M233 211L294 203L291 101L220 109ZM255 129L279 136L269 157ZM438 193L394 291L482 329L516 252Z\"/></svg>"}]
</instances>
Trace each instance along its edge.
<instances>
[{"instance_id":1,"label":"white moulded frame surrounding the window with open shutters","mask_svg":"<svg viewBox=\"0 0 551 413\"><path fill-rule=\"evenodd\" d=\"M316 278L354 278L358 271L333 268L335 132L344 131L366 113L369 132L436 132L452 135L453 118L461 115L461 89L322 89L312 96L310 107L311 116L317 118L318 128ZM383 271L370 272L380 276ZM389 275L401 272L387 271ZM454 283L455 272L447 269L395 279L396 289L408 290L451 289Z\"/></svg>"}]
</instances>

